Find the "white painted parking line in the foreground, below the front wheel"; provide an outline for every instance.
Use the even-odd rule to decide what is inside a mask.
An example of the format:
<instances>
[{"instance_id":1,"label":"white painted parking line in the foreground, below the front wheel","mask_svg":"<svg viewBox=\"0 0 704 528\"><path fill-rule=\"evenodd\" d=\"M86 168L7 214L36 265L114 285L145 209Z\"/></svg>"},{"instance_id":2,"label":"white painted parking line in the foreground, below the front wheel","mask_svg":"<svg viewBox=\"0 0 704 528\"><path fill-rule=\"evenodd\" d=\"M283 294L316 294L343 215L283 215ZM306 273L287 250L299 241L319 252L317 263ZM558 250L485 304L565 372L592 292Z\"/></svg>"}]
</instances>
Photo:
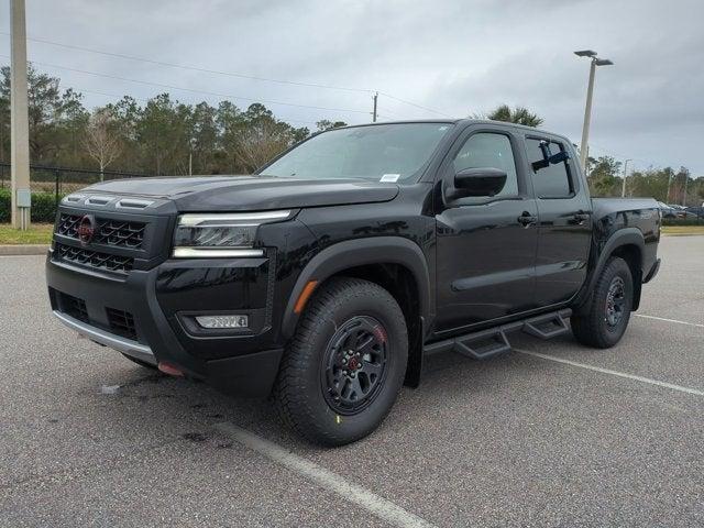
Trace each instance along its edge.
<instances>
[{"instance_id":1,"label":"white painted parking line in the foreground, below the front wheel","mask_svg":"<svg viewBox=\"0 0 704 528\"><path fill-rule=\"evenodd\" d=\"M229 422L216 424L215 427L239 443L305 476L324 490L337 493L342 498L361 506L394 526L402 528L432 528L432 525L425 519L406 512L391 501L386 501L362 486L346 481L343 476L298 457L253 432Z\"/></svg>"}]
</instances>

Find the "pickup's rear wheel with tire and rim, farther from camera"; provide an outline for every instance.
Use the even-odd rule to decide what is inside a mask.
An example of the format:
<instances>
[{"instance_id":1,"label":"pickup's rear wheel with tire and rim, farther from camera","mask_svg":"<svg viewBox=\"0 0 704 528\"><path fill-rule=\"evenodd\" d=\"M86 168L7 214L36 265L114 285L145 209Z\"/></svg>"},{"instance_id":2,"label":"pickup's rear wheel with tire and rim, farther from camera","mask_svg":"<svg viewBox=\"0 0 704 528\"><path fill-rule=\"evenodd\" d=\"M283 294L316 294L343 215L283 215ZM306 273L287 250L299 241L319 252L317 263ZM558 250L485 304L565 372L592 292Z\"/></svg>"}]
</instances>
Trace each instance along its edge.
<instances>
[{"instance_id":1,"label":"pickup's rear wheel with tire and rim, farther from camera","mask_svg":"<svg viewBox=\"0 0 704 528\"><path fill-rule=\"evenodd\" d=\"M630 267L623 258L609 258L587 307L572 316L574 337L581 343L597 349L615 345L628 327L632 298Z\"/></svg>"}]
</instances>

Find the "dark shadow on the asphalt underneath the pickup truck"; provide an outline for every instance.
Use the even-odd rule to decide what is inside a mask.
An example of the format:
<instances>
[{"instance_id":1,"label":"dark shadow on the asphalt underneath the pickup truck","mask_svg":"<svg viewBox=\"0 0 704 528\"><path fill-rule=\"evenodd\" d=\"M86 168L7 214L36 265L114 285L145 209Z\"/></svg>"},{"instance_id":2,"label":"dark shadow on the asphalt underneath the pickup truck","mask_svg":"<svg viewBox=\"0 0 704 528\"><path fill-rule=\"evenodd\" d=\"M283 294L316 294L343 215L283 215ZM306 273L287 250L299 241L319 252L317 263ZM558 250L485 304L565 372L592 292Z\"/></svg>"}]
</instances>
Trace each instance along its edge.
<instances>
[{"instance_id":1,"label":"dark shadow on the asphalt underneath the pickup truck","mask_svg":"<svg viewBox=\"0 0 704 528\"><path fill-rule=\"evenodd\" d=\"M564 345L573 344L570 338L564 341ZM433 409L438 406L447 402L471 406L473 398L499 397L508 391L510 378L527 378L542 367L544 365L534 359L515 352L485 361L455 353L431 355L426 360L420 386L415 389L404 387L394 410L374 437L387 435L398 426L435 429L441 435L443 421L433 418ZM124 416L123 419L116 417L116 426L134 427L133 415L139 410L142 419L161 420L161 428L169 435L202 447L232 447L215 431L217 424L229 421L292 448L318 449L280 422L271 400L231 397L199 382L145 372L140 367L127 366L116 374L111 383L119 384L119 389L113 395L100 395L121 402L113 411ZM163 424L163 420L170 424Z\"/></svg>"}]
</instances>

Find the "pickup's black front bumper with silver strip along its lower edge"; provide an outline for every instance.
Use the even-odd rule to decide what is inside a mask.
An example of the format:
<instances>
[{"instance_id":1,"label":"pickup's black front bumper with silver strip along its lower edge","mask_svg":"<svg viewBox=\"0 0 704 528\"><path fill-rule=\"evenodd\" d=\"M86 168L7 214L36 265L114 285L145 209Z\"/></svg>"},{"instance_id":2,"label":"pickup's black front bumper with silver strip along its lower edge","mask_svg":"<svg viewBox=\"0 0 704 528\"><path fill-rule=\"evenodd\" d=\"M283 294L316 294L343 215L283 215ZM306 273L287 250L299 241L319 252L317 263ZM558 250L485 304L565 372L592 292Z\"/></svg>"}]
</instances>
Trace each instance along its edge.
<instances>
[{"instance_id":1,"label":"pickup's black front bumper with silver strip along its lower edge","mask_svg":"<svg viewBox=\"0 0 704 528\"><path fill-rule=\"evenodd\" d=\"M266 396L283 354L272 330L272 260L165 261L114 276L50 253L46 280L54 315L91 341L150 364L168 362L228 394ZM228 311L248 314L253 328L206 332L188 324L195 314Z\"/></svg>"}]
</instances>

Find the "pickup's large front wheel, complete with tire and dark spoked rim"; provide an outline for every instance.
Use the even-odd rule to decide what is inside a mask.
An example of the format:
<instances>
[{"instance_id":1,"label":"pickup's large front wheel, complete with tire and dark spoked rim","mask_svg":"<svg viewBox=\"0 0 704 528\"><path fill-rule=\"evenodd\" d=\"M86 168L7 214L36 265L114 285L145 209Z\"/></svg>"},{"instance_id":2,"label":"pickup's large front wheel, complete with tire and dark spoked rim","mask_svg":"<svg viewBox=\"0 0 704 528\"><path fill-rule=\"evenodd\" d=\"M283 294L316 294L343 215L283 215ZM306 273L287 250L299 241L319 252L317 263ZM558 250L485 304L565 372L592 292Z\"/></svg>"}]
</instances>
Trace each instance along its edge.
<instances>
[{"instance_id":1,"label":"pickup's large front wheel, complete with tire and dark spoked rim","mask_svg":"<svg viewBox=\"0 0 704 528\"><path fill-rule=\"evenodd\" d=\"M275 402L284 421L316 443L370 435L406 372L404 314L377 284L333 278L309 301L282 361Z\"/></svg>"}]
</instances>

